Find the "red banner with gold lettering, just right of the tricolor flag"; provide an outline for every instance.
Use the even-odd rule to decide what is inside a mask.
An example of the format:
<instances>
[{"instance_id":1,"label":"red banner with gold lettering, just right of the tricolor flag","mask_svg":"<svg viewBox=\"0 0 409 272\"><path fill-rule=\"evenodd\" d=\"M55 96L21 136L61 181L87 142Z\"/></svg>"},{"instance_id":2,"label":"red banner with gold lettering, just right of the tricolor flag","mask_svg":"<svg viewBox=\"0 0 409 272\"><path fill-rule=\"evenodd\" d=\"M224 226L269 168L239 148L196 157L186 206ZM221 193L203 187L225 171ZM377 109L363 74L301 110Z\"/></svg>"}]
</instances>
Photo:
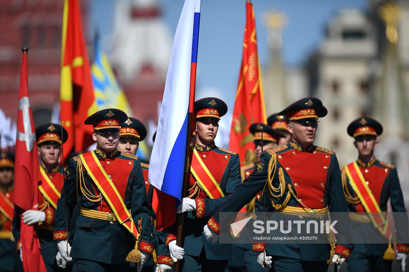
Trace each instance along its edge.
<instances>
[{"instance_id":1,"label":"red banner with gold lettering, just right of the tricolor flag","mask_svg":"<svg viewBox=\"0 0 409 272\"><path fill-rule=\"evenodd\" d=\"M254 161L252 156L253 135L249 131L252 123L266 123L261 70L258 62L256 22L253 4L246 3L246 25L244 29L243 58L231 123L229 149L240 155L240 164ZM253 158L254 157L254 158Z\"/></svg>"}]
</instances>

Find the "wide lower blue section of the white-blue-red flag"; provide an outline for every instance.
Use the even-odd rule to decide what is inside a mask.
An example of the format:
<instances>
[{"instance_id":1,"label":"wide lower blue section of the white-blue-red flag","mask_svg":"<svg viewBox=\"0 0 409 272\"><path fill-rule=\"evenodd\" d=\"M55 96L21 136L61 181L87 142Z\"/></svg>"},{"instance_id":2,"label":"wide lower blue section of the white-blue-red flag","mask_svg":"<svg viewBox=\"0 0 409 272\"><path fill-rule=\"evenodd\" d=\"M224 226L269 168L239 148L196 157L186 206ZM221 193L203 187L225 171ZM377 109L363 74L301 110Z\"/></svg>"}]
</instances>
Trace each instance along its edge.
<instances>
[{"instance_id":1,"label":"wide lower blue section of the white-blue-red flag","mask_svg":"<svg viewBox=\"0 0 409 272\"><path fill-rule=\"evenodd\" d=\"M186 156L187 120L188 113L186 114L183 125L180 128L175 144L172 147L169 161L166 165L162 187L160 188L162 192L178 198L179 201L182 198L184 171L180 171L180 169L184 169L184 160ZM176 184L175 181L178 181L180 184Z\"/></svg>"}]
</instances>

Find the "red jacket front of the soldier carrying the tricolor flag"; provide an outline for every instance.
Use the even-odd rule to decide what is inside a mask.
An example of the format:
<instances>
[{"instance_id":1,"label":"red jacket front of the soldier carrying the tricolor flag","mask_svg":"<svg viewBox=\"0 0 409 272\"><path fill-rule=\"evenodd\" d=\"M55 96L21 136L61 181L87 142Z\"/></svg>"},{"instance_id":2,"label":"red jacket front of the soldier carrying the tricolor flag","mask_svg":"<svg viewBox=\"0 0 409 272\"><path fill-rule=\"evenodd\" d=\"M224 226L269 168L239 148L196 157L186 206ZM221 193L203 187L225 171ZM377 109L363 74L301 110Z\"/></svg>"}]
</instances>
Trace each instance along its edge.
<instances>
[{"instance_id":1,"label":"red jacket front of the soldier carrying the tricolor flag","mask_svg":"<svg viewBox=\"0 0 409 272\"><path fill-rule=\"evenodd\" d=\"M226 167L227 164L229 163L230 160L230 156L231 155L226 155L226 154L219 154L216 153L214 151L209 151L209 152L197 152L198 156L200 156L203 164L207 167L207 169L209 170L209 172L211 173L211 175L213 176L214 180L216 181L216 183L218 185L220 185L221 179L223 174L226 171ZM193 157L195 156L195 154L193 154L193 150L191 150L190 152L190 156L189 156L189 165L192 165L192 167L194 166L195 169L200 169L200 164L193 160ZM192 164L193 163L193 164ZM200 175L199 171L196 171L198 175ZM203 179L202 181L205 182L205 178L206 175L203 174ZM196 178L193 176L192 172L190 172L190 179L189 179L189 188L195 186L196 183ZM214 185L212 185L209 181L209 186L207 186L209 190L214 189L214 194L217 195L218 194L218 189L215 188ZM193 190L191 191L193 192ZM199 198L207 198L209 196L207 196L205 194L205 192L203 192L203 190L200 191L200 194L198 195Z\"/></svg>"}]
</instances>

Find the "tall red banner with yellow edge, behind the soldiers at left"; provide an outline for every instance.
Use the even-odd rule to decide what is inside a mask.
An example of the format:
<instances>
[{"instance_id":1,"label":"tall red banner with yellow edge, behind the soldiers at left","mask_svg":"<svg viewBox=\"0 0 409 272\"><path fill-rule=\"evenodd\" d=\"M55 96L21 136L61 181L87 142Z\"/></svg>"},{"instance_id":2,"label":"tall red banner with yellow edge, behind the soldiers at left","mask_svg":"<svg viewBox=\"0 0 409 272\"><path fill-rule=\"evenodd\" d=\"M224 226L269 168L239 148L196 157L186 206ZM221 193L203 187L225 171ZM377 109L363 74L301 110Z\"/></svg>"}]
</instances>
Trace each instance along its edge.
<instances>
[{"instance_id":1,"label":"tall red banner with yellow edge, behind the soldiers at left","mask_svg":"<svg viewBox=\"0 0 409 272\"><path fill-rule=\"evenodd\" d=\"M65 153L83 151L94 143L92 127L84 125L84 120L97 111L97 105L78 0L64 2L60 99L61 120L69 135Z\"/></svg>"}]
</instances>

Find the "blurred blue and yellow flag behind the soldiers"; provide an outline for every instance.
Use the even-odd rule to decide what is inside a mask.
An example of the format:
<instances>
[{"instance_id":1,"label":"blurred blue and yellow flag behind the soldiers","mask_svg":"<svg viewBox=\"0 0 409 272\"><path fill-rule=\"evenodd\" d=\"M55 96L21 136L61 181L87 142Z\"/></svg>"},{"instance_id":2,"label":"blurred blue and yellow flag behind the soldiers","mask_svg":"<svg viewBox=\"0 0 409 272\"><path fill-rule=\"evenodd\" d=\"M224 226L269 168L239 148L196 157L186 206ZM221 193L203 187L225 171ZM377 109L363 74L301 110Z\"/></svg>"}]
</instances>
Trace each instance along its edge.
<instances>
[{"instance_id":1,"label":"blurred blue and yellow flag behind the soldiers","mask_svg":"<svg viewBox=\"0 0 409 272\"><path fill-rule=\"evenodd\" d=\"M98 110L107 108L121 109L128 116L133 116L124 90L119 85L108 59L100 47L99 39L95 39L94 42L94 56L91 74Z\"/></svg>"}]
</instances>

